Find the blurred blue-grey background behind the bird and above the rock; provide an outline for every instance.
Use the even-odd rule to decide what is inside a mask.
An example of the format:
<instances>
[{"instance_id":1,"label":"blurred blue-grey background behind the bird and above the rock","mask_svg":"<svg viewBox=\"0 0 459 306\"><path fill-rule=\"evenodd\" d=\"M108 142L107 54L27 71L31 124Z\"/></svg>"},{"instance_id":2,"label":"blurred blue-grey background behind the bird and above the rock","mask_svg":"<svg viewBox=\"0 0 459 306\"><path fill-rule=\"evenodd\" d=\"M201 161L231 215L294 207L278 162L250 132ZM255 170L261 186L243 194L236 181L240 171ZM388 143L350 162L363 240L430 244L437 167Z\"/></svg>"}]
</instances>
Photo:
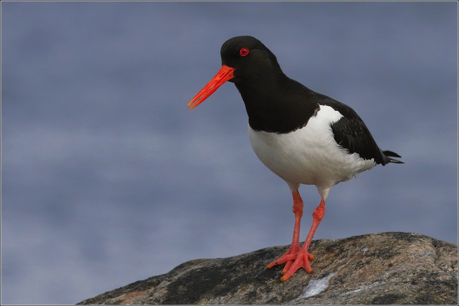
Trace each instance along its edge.
<instances>
[{"instance_id":1,"label":"blurred blue-grey background behind the bird and above the rock","mask_svg":"<svg viewBox=\"0 0 459 306\"><path fill-rule=\"evenodd\" d=\"M287 245L287 185L233 84L252 35L404 165L332 188L315 239L457 243L457 3L2 2L2 304L72 304L190 259ZM320 198L302 186L306 238Z\"/></svg>"}]
</instances>

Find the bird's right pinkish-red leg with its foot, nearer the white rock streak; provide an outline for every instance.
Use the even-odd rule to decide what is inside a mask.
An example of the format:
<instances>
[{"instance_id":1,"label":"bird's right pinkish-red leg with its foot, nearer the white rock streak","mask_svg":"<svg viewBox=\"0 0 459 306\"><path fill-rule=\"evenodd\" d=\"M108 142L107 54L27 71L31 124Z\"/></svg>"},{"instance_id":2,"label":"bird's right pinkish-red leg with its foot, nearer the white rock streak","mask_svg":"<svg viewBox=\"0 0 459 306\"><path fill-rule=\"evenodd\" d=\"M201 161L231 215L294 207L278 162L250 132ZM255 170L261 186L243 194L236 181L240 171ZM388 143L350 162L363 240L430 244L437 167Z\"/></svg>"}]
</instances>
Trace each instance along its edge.
<instances>
[{"instance_id":1,"label":"bird's right pinkish-red leg with its foot, nearer the white rock streak","mask_svg":"<svg viewBox=\"0 0 459 306\"><path fill-rule=\"evenodd\" d=\"M323 214L325 213L325 200L322 198L320 201L319 206L314 209L312 213L312 225L311 229L309 230L308 237L306 237L306 241L303 244L303 247L300 251L298 251L295 261L289 265L289 269L284 276L280 279L281 281L286 281L293 273L297 272L300 267L303 267L309 273L312 273L311 265L309 264L309 260L314 260L314 256L312 256L309 252L309 245L311 244L312 238L314 237L314 233L317 230L317 226L319 226L320 221L322 220ZM287 265L285 265L287 266ZM285 270L285 269L284 269Z\"/></svg>"}]
</instances>

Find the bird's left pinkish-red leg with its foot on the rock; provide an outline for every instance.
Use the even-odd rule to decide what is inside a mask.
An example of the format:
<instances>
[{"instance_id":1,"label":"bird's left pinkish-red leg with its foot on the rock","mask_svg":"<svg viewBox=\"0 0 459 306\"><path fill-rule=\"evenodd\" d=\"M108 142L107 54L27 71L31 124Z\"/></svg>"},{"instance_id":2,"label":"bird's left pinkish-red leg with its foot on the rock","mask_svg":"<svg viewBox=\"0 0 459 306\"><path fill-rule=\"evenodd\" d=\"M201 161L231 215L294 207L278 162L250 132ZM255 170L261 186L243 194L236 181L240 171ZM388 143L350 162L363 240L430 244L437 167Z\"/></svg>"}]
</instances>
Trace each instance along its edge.
<instances>
[{"instance_id":1,"label":"bird's left pinkish-red leg with its foot on the rock","mask_svg":"<svg viewBox=\"0 0 459 306\"><path fill-rule=\"evenodd\" d=\"M295 214L295 225L293 227L293 239L291 241L291 246L288 251L268 264L268 269L272 268L276 264L281 264L286 262L282 274L285 274L289 267L293 264L293 261L297 258L297 254L300 251L300 222L301 217L303 216L303 200L301 199L300 193L298 190L294 190L291 193L293 197L293 213Z\"/></svg>"}]
</instances>

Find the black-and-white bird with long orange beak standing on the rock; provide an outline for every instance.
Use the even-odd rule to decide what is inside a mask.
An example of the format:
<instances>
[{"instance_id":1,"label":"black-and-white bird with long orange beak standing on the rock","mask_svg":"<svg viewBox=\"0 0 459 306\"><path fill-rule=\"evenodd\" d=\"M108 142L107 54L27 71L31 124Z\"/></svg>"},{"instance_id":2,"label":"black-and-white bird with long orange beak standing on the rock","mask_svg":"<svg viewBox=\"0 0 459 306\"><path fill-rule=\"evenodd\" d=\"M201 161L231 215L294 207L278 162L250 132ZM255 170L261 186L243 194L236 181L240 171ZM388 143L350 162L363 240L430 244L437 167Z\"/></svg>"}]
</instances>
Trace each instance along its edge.
<instances>
[{"instance_id":1,"label":"black-and-white bird with long orange beak standing on the rock","mask_svg":"<svg viewBox=\"0 0 459 306\"><path fill-rule=\"evenodd\" d=\"M309 246L325 212L332 186L376 165L403 164L395 152L381 150L358 114L344 103L288 78L276 56L252 36L236 36L220 50L222 67L189 102L198 106L225 82L236 85L248 115L248 134L258 159L288 185L295 216L288 251L267 268L285 263L281 281L300 268L312 273ZM320 203L300 247L301 184L315 185Z\"/></svg>"}]
</instances>

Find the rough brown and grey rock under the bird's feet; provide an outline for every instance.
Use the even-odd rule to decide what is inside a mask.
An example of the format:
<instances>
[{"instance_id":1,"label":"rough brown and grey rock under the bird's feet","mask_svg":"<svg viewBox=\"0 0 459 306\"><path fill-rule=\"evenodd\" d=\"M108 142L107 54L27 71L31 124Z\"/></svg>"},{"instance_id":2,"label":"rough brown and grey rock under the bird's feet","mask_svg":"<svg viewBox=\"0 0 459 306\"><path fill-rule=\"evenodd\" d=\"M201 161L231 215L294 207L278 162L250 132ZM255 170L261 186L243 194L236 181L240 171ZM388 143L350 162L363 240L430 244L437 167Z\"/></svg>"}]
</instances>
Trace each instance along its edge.
<instances>
[{"instance_id":1,"label":"rough brown and grey rock under the bird's feet","mask_svg":"<svg viewBox=\"0 0 459 306\"><path fill-rule=\"evenodd\" d=\"M457 304L457 246L411 233L315 240L313 273L281 282L289 246L196 259L78 304Z\"/></svg>"}]
</instances>

